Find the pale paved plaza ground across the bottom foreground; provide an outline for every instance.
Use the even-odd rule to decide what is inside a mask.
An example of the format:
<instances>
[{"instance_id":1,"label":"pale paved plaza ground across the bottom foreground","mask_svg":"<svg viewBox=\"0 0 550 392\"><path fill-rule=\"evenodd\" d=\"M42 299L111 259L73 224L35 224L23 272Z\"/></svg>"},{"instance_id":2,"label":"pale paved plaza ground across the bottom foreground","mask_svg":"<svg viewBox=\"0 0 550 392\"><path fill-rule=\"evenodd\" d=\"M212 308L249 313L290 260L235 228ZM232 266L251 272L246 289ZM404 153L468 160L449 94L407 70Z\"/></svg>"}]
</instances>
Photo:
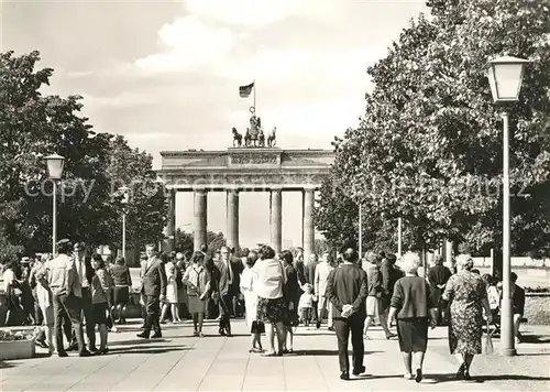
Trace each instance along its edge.
<instances>
[{"instance_id":1,"label":"pale paved plaza ground across the bottom foreground","mask_svg":"<svg viewBox=\"0 0 550 392\"><path fill-rule=\"evenodd\" d=\"M550 390L550 327L526 326L519 356L479 356L471 373L476 381L454 381L454 359L448 353L447 329L430 334L425 380L404 380L396 340L381 328L365 345L366 374L339 379L336 337L326 328L300 327L295 353L262 357L249 353L250 338L242 320L233 320L235 336L219 337L213 322L207 336L191 336L189 324L164 328L164 337L141 340L138 324L110 334L107 356L45 357L1 362L1 391L548 391ZM210 336L209 336L210 335ZM265 345L265 338L264 338ZM495 347L498 341L495 341ZM265 347L264 347L265 348Z\"/></svg>"}]
</instances>

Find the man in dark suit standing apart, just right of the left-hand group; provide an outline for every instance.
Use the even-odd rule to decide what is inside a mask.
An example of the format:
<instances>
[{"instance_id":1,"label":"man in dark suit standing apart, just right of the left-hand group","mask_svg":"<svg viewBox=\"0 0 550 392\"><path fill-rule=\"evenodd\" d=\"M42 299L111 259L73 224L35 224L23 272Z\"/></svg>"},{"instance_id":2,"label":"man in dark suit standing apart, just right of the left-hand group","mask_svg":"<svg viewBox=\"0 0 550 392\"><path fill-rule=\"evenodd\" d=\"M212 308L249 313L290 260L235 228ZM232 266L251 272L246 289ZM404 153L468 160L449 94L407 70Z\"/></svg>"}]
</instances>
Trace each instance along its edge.
<instances>
[{"instance_id":1,"label":"man in dark suit standing apart, just right of the left-hand group","mask_svg":"<svg viewBox=\"0 0 550 392\"><path fill-rule=\"evenodd\" d=\"M160 258L156 255L155 246L147 244L145 247L147 261L142 264L141 270L141 290L145 296L145 326L143 333L138 334L138 337L148 339L151 329L154 330L151 338L162 337L161 333L161 301L166 296L166 272Z\"/></svg>"}]
</instances>

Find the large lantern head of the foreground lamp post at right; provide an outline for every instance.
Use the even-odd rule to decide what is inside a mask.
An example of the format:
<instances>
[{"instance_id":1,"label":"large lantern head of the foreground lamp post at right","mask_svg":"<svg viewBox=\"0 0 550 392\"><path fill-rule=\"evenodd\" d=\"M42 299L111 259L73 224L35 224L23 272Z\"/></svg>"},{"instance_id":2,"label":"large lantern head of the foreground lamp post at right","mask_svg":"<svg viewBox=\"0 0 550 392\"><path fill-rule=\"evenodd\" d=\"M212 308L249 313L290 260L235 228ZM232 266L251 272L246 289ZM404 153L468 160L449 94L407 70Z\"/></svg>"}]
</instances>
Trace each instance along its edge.
<instances>
[{"instance_id":1,"label":"large lantern head of the foreground lamp post at right","mask_svg":"<svg viewBox=\"0 0 550 392\"><path fill-rule=\"evenodd\" d=\"M528 59L512 56L493 58L487 63L487 78L495 104L515 102L519 99L527 63Z\"/></svg>"}]
</instances>

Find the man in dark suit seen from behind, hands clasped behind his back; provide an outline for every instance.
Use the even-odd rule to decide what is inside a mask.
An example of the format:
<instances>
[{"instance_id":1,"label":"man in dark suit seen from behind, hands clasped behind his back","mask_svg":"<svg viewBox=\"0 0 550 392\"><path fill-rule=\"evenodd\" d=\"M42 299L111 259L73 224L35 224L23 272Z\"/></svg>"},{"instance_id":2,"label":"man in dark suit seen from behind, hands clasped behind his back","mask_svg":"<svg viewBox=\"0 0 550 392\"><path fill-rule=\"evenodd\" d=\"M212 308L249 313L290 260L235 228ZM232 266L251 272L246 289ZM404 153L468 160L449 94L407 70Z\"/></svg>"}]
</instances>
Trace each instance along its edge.
<instances>
[{"instance_id":1,"label":"man in dark suit seen from behind, hands clasped behind his back","mask_svg":"<svg viewBox=\"0 0 550 392\"><path fill-rule=\"evenodd\" d=\"M366 318L365 300L367 296L366 272L356 265L358 251L348 248L343 254L343 263L332 270L327 279L327 300L332 304L334 329L338 339L338 357L340 360L340 379L350 379L350 360L348 341L351 330L353 347L353 374L364 373L363 326Z\"/></svg>"}]
</instances>

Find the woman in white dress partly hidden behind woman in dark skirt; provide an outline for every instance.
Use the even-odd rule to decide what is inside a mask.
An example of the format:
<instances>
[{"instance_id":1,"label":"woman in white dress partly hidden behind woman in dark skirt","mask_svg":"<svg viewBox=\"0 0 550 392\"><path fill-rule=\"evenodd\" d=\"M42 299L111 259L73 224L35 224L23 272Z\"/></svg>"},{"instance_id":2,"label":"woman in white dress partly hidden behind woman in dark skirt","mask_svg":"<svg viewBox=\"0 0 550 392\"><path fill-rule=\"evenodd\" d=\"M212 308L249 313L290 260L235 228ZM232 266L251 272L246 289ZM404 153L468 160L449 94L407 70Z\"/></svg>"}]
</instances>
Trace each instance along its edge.
<instances>
[{"instance_id":1,"label":"woman in white dress partly hidden behind woman in dark skirt","mask_svg":"<svg viewBox=\"0 0 550 392\"><path fill-rule=\"evenodd\" d=\"M257 260L257 252L251 251L246 257L246 266L241 274L241 293L244 295L244 306L246 309L246 325L251 328L252 347L249 352L262 352L262 334L265 333L265 326L257 320L257 295L254 292L254 284L257 276L252 269ZM257 347L256 347L257 345Z\"/></svg>"}]
</instances>

